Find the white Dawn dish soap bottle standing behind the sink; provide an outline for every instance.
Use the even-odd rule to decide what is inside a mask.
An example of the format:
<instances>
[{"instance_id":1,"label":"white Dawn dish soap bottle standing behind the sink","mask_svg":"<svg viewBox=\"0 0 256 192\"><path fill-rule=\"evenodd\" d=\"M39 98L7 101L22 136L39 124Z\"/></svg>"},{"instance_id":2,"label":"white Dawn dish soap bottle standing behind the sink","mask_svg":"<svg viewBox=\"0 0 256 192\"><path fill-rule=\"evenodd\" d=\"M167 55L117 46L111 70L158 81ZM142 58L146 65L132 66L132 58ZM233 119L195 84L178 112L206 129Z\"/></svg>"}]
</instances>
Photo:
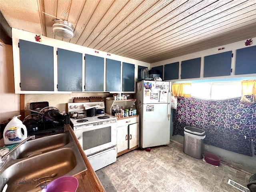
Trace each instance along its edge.
<instances>
[{"instance_id":1,"label":"white Dawn dish soap bottle standing behind the sink","mask_svg":"<svg viewBox=\"0 0 256 192\"><path fill-rule=\"evenodd\" d=\"M21 115L19 115L21 116ZM19 116L14 116L12 120L4 128L4 145L18 144L27 138L27 128L18 119Z\"/></svg>"}]
</instances>

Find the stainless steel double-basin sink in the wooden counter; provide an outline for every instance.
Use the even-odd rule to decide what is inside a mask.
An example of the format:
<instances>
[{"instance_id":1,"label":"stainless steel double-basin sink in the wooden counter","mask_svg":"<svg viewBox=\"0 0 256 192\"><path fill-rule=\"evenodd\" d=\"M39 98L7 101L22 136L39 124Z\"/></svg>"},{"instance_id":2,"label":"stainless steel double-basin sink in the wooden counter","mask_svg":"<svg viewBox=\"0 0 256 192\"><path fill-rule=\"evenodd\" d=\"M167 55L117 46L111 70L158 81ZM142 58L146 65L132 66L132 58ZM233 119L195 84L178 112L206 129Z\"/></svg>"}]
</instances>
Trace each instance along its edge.
<instances>
[{"instance_id":1,"label":"stainless steel double-basin sink in the wooden counter","mask_svg":"<svg viewBox=\"0 0 256 192\"><path fill-rule=\"evenodd\" d=\"M58 177L75 176L86 169L70 131L30 140L11 152L1 168L0 191L6 183L7 192L40 191ZM42 178L54 173L54 177Z\"/></svg>"}]
</instances>

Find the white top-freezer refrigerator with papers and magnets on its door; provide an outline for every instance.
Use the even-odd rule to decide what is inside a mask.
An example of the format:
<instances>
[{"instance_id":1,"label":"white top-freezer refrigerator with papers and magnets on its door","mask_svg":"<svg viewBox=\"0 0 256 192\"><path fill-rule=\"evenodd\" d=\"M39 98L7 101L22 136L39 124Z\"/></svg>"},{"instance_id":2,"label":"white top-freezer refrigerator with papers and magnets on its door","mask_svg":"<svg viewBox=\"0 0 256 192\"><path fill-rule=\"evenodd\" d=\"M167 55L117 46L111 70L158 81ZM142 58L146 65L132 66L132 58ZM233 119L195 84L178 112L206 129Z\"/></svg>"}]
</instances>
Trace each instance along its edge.
<instances>
[{"instance_id":1,"label":"white top-freezer refrigerator with papers and magnets on its door","mask_svg":"<svg viewBox=\"0 0 256 192\"><path fill-rule=\"evenodd\" d=\"M137 82L135 98L140 115L140 148L170 143L170 84Z\"/></svg>"}]
</instances>

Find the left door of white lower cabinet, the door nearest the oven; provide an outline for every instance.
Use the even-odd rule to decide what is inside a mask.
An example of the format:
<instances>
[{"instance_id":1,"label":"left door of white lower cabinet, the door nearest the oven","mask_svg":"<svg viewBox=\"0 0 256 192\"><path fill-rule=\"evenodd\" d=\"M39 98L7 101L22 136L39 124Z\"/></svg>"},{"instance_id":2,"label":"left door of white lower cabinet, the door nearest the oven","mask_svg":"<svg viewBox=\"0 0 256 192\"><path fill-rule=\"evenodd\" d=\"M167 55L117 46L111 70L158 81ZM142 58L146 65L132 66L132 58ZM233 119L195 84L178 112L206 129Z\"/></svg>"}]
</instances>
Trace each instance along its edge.
<instances>
[{"instance_id":1,"label":"left door of white lower cabinet, the door nearest the oven","mask_svg":"<svg viewBox=\"0 0 256 192\"><path fill-rule=\"evenodd\" d=\"M117 152L121 152L129 148L128 143L128 126L121 126L117 128Z\"/></svg>"}]
</instances>

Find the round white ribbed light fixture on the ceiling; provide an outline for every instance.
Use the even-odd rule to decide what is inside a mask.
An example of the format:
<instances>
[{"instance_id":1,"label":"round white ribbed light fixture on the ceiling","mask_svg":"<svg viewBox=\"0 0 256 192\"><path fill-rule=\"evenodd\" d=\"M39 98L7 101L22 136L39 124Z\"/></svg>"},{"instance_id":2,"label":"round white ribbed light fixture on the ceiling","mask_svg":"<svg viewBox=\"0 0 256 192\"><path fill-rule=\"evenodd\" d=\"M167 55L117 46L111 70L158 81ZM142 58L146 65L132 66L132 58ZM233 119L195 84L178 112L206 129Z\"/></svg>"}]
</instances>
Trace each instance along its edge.
<instances>
[{"instance_id":1,"label":"round white ribbed light fixture on the ceiling","mask_svg":"<svg viewBox=\"0 0 256 192\"><path fill-rule=\"evenodd\" d=\"M74 36L72 23L62 19L53 19L52 22L52 30L55 35L64 39L71 39Z\"/></svg>"}]
</instances>

